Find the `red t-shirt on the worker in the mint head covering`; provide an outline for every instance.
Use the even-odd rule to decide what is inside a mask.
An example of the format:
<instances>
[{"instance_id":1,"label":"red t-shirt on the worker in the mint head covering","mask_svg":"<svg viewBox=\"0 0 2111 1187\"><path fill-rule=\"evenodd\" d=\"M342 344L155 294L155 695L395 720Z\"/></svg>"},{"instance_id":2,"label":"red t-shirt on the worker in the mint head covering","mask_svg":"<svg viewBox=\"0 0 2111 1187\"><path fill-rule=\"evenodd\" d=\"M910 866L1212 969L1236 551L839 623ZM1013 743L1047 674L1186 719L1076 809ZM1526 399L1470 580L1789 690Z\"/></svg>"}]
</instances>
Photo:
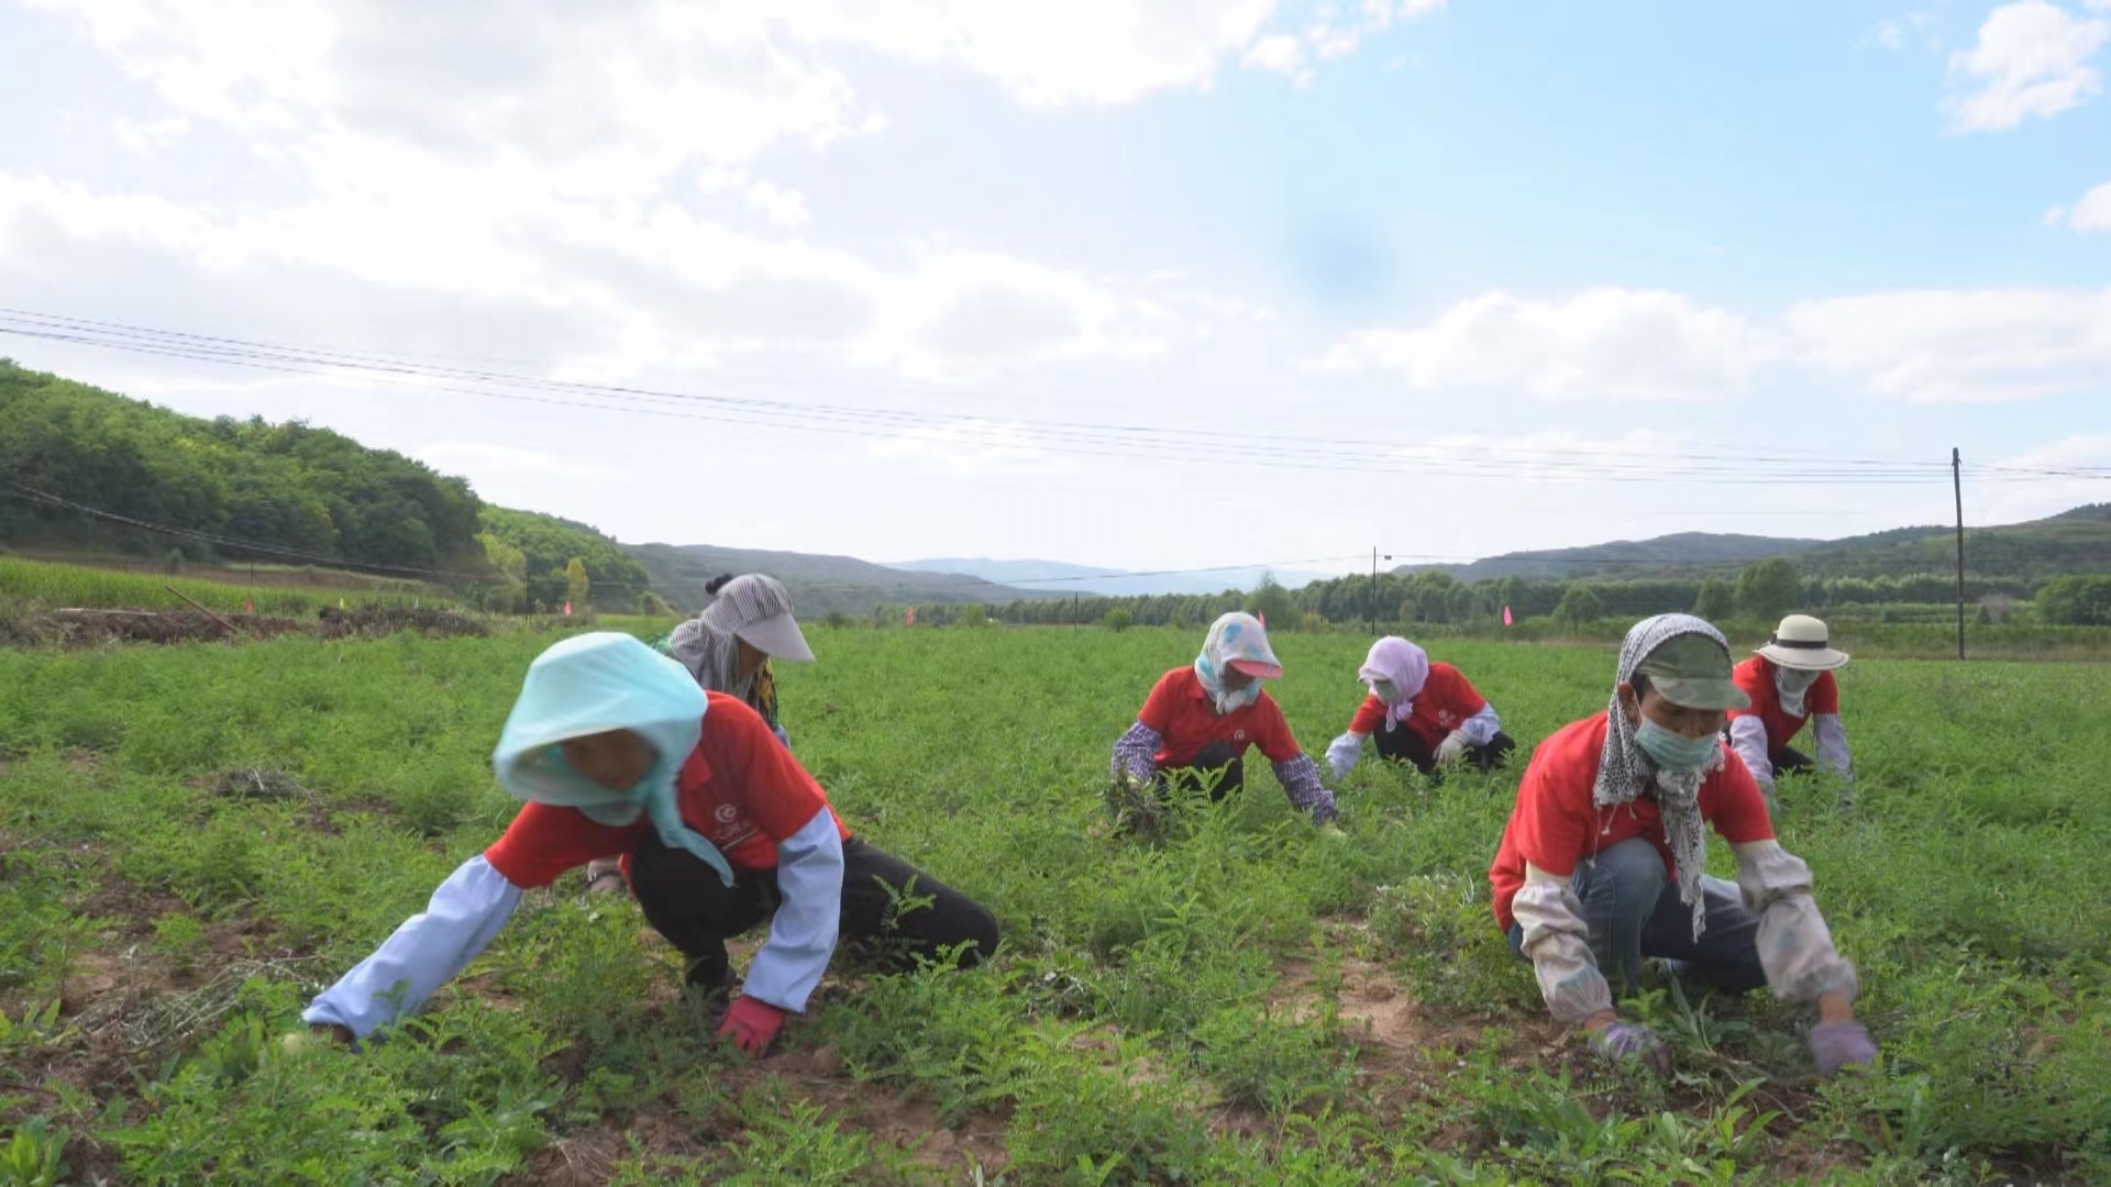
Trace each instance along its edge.
<instances>
[{"instance_id":1,"label":"red t-shirt on the worker in the mint head covering","mask_svg":"<svg viewBox=\"0 0 2111 1187\"><path fill-rule=\"evenodd\" d=\"M701 832L735 870L775 870L777 843L828 807L828 792L777 741L762 716L739 697L705 693L703 737L676 773L682 822ZM625 855L652 832L640 815L625 826L595 824L570 807L524 805L483 860L517 887L547 887L595 858ZM849 839L842 817L836 834Z\"/></svg>"}]
</instances>

